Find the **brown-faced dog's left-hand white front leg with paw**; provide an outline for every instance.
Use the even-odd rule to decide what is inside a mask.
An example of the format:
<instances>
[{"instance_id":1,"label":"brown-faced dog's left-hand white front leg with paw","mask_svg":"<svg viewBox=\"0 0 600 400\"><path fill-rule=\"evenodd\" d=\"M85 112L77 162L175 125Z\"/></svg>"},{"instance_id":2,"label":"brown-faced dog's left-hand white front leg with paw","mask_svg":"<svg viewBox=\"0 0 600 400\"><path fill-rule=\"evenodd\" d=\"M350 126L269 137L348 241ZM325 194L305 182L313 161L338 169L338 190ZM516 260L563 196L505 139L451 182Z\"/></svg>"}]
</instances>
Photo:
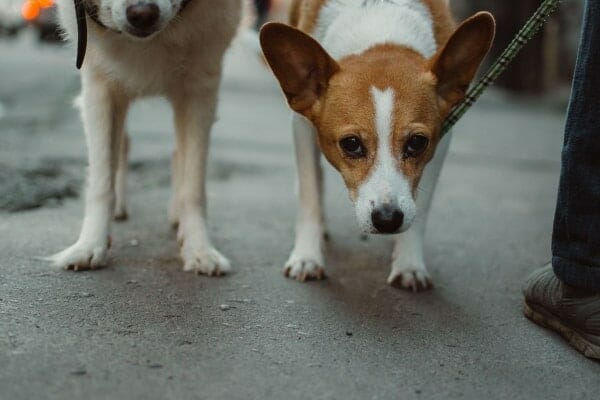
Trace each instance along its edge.
<instances>
[{"instance_id":1,"label":"brown-faced dog's left-hand white front leg with paw","mask_svg":"<svg viewBox=\"0 0 600 400\"><path fill-rule=\"evenodd\" d=\"M320 150L311 122L296 113L292 118L299 184L298 219L294 250L284 273L299 281L322 279L324 228Z\"/></svg>"}]
</instances>

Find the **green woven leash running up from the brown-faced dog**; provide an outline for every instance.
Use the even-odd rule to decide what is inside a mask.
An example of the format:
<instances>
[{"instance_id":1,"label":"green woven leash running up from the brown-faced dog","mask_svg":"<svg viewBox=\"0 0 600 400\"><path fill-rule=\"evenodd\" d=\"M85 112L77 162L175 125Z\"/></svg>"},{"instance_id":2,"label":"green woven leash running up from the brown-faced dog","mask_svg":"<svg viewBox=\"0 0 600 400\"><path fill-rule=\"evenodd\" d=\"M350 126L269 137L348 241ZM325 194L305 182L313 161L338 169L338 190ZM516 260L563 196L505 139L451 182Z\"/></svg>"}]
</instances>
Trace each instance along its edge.
<instances>
[{"instance_id":1,"label":"green woven leash running up from the brown-faced dog","mask_svg":"<svg viewBox=\"0 0 600 400\"><path fill-rule=\"evenodd\" d=\"M560 0L544 0L537 11L521 28L517 36L510 42L506 50L490 67L489 71L466 94L464 100L455 106L442 125L442 137L462 118L462 116L475 104L477 99L506 70L511 61L519 54L535 34L548 20L548 17L558 9Z\"/></svg>"}]
</instances>

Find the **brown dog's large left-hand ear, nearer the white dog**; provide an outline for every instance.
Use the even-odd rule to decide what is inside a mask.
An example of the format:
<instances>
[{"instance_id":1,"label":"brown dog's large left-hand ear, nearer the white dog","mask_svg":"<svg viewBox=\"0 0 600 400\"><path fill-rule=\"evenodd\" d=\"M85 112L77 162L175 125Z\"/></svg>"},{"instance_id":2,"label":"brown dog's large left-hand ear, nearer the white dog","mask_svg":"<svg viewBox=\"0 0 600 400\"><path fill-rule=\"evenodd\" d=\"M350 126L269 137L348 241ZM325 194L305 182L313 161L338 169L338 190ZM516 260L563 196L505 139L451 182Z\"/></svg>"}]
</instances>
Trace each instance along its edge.
<instances>
[{"instance_id":1,"label":"brown dog's large left-hand ear, nearer the white dog","mask_svg":"<svg viewBox=\"0 0 600 400\"><path fill-rule=\"evenodd\" d=\"M290 107L309 116L338 64L316 40L285 24L263 26L260 45Z\"/></svg>"}]
</instances>

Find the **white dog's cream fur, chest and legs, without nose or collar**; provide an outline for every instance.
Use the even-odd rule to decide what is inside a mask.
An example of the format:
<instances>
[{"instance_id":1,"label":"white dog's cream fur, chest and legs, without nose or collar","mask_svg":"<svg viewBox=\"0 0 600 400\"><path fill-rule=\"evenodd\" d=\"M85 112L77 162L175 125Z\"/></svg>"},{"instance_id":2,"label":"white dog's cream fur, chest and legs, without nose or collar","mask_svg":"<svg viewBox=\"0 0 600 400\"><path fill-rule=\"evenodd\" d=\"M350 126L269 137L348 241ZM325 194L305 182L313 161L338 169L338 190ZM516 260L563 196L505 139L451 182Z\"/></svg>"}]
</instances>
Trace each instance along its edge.
<instances>
[{"instance_id":1,"label":"white dog's cream fur, chest and legs, without nose or collar","mask_svg":"<svg viewBox=\"0 0 600 400\"><path fill-rule=\"evenodd\" d=\"M240 0L192 0L181 13L181 0L146 0L156 2L162 16L156 32L144 40L129 35L121 17L131 0L88 1L99 6L104 25L122 33L88 18L80 101L89 156L85 216L77 242L52 261L74 269L106 264L110 221L126 215L127 109L139 97L160 95L174 108L170 218L178 224L184 270L228 271L229 262L207 234L205 179L222 59L238 26ZM62 26L75 40L73 1L58 0L58 8Z\"/></svg>"}]
</instances>

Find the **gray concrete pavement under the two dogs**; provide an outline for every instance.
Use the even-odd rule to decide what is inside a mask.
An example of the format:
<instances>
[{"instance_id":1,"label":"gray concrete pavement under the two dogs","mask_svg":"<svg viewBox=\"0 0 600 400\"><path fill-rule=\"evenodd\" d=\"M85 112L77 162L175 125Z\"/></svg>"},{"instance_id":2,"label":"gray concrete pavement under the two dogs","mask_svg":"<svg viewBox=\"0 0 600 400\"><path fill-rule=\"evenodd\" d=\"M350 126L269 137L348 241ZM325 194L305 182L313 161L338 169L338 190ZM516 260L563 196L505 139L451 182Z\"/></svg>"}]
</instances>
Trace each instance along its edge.
<instances>
[{"instance_id":1,"label":"gray concrete pavement under the two dogs","mask_svg":"<svg viewBox=\"0 0 600 400\"><path fill-rule=\"evenodd\" d=\"M40 182L77 188L73 52L21 38L0 41L0 55L2 198L19 203L19 188ZM227 277L178 262L160 100L130 118L131 219L114 226L110 267L71 273L35 258L76 239L80 199L42 190L41 208L0 211L1 399L597 398L600 365L521 314L524 278L549 260L561 104L490 93L461 121L428 227L436 286L419 294L385 285L391 240L360 240L329 167L329 279L285 279L289 116L246 49L228 59L219 116L209 216Z\"/></svg>"}]
</instances>

